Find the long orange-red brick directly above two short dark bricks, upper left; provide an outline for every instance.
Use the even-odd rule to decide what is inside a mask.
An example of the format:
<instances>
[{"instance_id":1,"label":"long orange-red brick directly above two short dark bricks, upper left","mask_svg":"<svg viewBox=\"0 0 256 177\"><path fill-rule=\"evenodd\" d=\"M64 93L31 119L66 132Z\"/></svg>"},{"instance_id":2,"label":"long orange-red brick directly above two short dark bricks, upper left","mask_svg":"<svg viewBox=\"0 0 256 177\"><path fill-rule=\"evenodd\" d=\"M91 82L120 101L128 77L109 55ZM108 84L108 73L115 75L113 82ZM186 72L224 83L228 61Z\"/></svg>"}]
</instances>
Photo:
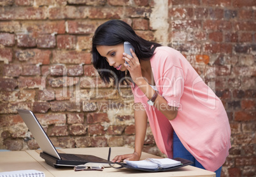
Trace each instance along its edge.
<instances>
[{"instance_id":1,"label":"long orange-red brick directly above two short dark bricks, upper left","mask_svg":"<svg viewBox=\"0 0 256 177\"><path fill-rule=\"evenodd\" d=\"M20 30L34 34L64 34L66 31L64 20L24 22Z\"/></svg>"}]
</instances>

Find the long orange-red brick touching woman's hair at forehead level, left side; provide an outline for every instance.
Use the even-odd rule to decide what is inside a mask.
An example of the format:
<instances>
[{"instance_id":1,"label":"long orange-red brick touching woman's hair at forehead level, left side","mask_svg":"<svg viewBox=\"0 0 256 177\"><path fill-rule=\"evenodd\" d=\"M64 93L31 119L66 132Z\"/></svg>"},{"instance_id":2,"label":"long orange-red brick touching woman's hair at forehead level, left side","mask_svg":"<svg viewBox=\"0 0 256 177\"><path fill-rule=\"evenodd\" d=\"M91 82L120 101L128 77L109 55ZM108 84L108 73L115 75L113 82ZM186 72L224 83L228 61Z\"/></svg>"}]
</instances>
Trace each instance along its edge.
<instances>
[{"instance_id":1,"label":"long orange-red brick touching woman's hair at forehead level, left side","mask_svg":"<svg viewBox=\"0 0 256 177\"><path fill-rule=\"evenodd\" d=\"M90 64L90 53L77 51L53 51L53 63Z\"/></svg>"}]
</instances>

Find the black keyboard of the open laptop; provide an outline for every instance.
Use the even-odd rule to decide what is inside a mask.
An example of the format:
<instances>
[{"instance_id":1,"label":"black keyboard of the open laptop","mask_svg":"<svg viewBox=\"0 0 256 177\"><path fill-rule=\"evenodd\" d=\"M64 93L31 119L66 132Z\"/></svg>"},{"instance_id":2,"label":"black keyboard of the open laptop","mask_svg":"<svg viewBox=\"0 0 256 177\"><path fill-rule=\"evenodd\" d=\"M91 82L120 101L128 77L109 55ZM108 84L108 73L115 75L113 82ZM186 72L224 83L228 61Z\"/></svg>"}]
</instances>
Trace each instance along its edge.
<instances>
[{"instance_id":1,"label":"black keyboard of the open laptop","mask_svg":"<svg viewBox=\"0 0 256 177\"><path fill-rule=\"evenodd\" d=\"M72 153L60 153L59 154L62 160L75 160L75 161L87 161L87 162L103 162L106 161L100 157L94 155L80 155Z\"/></svg>"}]
</instances>

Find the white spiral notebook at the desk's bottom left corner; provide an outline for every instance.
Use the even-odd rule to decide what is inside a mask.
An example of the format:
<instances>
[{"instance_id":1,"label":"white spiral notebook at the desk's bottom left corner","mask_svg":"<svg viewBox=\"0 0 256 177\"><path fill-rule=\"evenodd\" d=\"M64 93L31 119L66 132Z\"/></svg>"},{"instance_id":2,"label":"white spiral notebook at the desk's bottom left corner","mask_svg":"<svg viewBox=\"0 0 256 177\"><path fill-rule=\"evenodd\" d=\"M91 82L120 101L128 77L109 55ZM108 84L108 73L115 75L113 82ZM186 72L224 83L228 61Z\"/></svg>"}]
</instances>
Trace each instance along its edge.
<instances>
[{"instance_id":1,"label":"white spiral notebook at the desk's bottom left corner","mask_svg":"<svg viewBox=\"0 0 256 177\"><path fill-rule=\"evenodd\" d=\"M0 172L0 177L45 177L45 173L34 169L20 170L20 171L5 171Z\"/></svg>"}]
</instances>

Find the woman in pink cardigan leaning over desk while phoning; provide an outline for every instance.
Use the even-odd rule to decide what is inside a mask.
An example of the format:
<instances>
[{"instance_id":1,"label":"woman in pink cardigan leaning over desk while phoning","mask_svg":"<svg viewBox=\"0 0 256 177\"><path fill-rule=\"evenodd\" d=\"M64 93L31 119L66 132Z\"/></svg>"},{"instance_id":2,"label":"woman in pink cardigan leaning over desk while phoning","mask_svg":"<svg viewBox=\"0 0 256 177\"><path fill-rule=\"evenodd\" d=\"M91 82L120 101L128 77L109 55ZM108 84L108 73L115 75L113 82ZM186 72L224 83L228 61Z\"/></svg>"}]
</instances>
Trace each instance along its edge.
<instances>
[{"instance_id":1,"label":"woman in pink cardigan leaning over desk while phoning","mask_svg":"<svg viewBox=\"0 0 256 177\"><path fill-rule=\"evenodd\" d=\"M124 53L124 41L134 46L132 56ZM110 20L97 28L92 54L104 81L132 79L134 153L118 155L113 162L139 160L148 119L157 146L167 157L192 160L194 166L220 176L231 148L227 113L180 52L140 38L121 20Z\"/></svg>"}]
</instances>

